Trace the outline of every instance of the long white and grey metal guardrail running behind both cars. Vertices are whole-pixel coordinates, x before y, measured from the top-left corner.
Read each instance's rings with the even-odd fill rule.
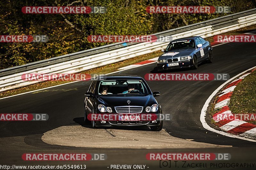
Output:
[[[206,38],[254,24],[256,24],[256,9],[163,31],[154,35],[171,35],[172,39],[193,35]],[[165,48],[168,44],[169,42],[114,43],[0,70],[0,92],[37,83],[36,81],[22,80],[22,74],[77,73],[148,54]]]

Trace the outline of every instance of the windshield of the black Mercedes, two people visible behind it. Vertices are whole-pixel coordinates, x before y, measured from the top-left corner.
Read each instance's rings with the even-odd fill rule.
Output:
[[[99,95],[148,95],[149,90],[142,80],[104,80],[98,86]]]

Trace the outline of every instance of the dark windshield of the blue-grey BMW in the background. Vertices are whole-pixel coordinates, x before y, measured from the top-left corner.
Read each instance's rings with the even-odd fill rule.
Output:
[[[172,41],[166,48],[166,51],[195,48],[194,40]]]

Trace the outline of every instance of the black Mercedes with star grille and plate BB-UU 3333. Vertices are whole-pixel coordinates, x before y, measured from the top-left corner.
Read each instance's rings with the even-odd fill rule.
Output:
[[[84,121],[92,127],[147,126],[152,131],[163,128],[162,110],[140,76],[108,75],[94,80],[85,93]]]

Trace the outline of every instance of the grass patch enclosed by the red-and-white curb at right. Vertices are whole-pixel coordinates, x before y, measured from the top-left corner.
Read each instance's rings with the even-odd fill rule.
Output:
[[[229,108],[233,114],[256,114],[256,71],[236,85]],[[250,123],[256,124],[256,121]]]

